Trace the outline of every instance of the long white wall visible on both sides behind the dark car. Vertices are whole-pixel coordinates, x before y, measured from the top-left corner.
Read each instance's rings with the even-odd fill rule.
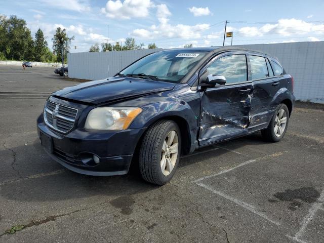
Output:
[[[240,46],[278,58],[295,80],[297,100],[324,103],[324,42],[299,42]],[[69,77],[101,79],[114,75],[136,59],[162,49],[69,53]]]

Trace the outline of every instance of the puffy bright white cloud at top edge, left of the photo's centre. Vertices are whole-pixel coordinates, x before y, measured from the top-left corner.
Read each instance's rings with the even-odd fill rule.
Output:
[[[131,19],[144,18],[149,14],[149,8],[154,5],[150,0],[109,0],[105,8],[101,8],[101,13],[108,18]]]

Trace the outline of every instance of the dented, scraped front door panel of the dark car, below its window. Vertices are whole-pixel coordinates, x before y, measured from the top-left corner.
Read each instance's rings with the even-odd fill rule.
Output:
[[[200,144],[226,139],[250,124],[252,84],[225,86],[201,94]]]

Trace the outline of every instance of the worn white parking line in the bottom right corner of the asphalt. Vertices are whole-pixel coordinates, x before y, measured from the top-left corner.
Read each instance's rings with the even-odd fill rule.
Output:
[[[295,236],[291,236],[291,235],[287,235],[287,237],[294,239],[298,242],[306,242],[303,241],[301,238],[304,235],[305,229],[307,227],[307,225],[309,224],[309,222],[314,218],[316,212],[318,210],[321,210],[322,206],[324,204],[324,190],[322,190],[322,192],[320,193],[319,198],[317,199],[316,203],[313,203],[312,207],[308,210],[308,214],[304,217],[302,223],[301,223],[301,227],[298,230],[298,232],[295,234]]]

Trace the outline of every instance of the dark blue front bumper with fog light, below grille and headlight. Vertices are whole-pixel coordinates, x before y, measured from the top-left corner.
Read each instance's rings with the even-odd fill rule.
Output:
[[[75,129],[63,135],[45,125],[43,114],[37,118],[38,137],[42,133],[52,141],[52,150],[46,149],[51,158],[71,171],[93,176],[127,174],[135,147],[144,130]],[[98,164],[91,160],[93,155],[100,159]]]

